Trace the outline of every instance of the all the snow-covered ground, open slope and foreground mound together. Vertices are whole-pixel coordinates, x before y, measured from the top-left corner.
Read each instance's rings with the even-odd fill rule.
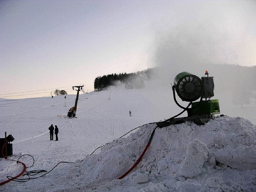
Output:
[[[50,171],[59,162],[72,162],[61,163],[37,179],[10,181],[0,186],[1,191],[256,191],[255,103],[234,108],[220,101],[221,114],[228,116],[217,116],[202,126],[186,122],[156,128],[142,161],[118,180],[146,147],[156,127],[148,123],[181,111],[172,100],[171,90],[116,88],[82,94],[77,118],[66,118],[75,98],[68,95],[67,106],[64,96],[0,100],[0,137],[4,138],[6,131],[15,138],[9,159],[33,156],[32,167],[31,156],[19,160],[27,171]],[[51,124],[59,128],[58,141],[50,141]],[[90,156],[99,146],[103,147]],[[1,158],[0,182],[22,169],[22,165]]]

